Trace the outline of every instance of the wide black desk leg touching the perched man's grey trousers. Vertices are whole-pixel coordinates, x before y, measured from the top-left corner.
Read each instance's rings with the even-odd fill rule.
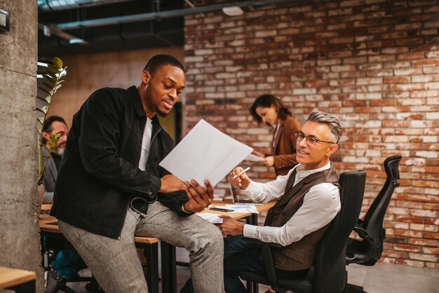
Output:
[[[177,272],[175,270],[175,247],[161,241],[161,291],[177,292]]]

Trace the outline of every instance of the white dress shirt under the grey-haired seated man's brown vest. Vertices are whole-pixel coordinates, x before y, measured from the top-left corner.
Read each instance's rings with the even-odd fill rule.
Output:
[[[305,177],[331,167],[331,163],[322,168],[314,170],[304,170],[303,165],[297,165],[295,183]],[[278,176],[276,180],[267,183],[257,183],[250,181],[245,193],[257,202],[267,203],[273,199],[281,198],[285,192],[293,168],[287,175]],[[297,242],[304,236],[317,231],[332,221],[341,209],[340,192],[338,186],[323,182],[317,184],[304,196],[304,203],[299,210],[291,217],[288,222],[281,227],[273,226],[254,226],[245,224],[244,236],[257,238],[264,242],[278,243],[286,246]]]

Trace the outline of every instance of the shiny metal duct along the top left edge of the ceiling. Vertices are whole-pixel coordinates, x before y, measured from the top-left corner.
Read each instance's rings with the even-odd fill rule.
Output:
[[[126,1],[133,0],[38,0],[38,9],[41,11],[61,11]]]

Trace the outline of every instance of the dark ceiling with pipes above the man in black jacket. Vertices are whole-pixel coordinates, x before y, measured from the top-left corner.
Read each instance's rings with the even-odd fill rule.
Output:
[[[184,16],[144,20],[155,13],[181,10],[184,8],[183,0],[121,0],[114,3],[116,1],[39,0],[39,58],[183,45]],[[50,2],[53,2],[51,8],[47,5]],[[55,6],[62,2],[79,3],[80,6]],[[133,15],[143,15],[143,20],[135,21]],[[114,17],[117,20],[104,25],[111,23],[108,18]],[[127,22],[117,23],[124,17],[128,18]],[[50,36],[45,36],[48,29]],[[86,43],[69,43],[69,39],[76,37]]]

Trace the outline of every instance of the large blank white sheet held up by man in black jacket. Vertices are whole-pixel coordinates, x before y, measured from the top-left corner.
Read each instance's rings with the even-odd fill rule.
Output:
[[[215,186],[252,150],[201,119],[159,165],[182,181]]]

